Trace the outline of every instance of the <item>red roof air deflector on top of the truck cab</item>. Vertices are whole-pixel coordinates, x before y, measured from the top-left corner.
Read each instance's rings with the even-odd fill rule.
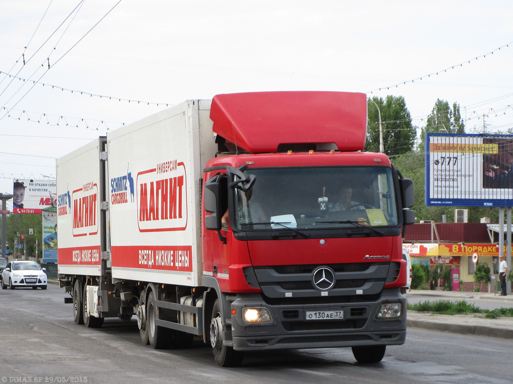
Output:
[[[252,153],[277,152],[279,144],[335,143],[362,151],[367,96],[349,92],[251,92],[216,95],[213,131]]]

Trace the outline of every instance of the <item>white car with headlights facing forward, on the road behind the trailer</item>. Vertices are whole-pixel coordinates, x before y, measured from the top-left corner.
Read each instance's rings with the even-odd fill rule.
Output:
[[[2,271],[2,289],[16,287],[32,287],[32,289],[46,289],[46,268],[41,268],[35,261],[11,261]]]

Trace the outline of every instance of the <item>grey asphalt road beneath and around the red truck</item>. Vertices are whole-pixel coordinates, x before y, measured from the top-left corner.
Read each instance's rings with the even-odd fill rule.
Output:
[[[187,350],[141,344],[135,320],[101,329],[73,322],[64,291],[0,290],[0,381],[88,383],[511,383],[513,340],[409,329],[380,364],[362,366],[348,348],[247,354],[219,368],[198,340]]]

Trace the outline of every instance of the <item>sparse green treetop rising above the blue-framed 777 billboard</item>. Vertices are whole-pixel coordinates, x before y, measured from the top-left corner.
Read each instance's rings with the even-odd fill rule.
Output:
[[[437,99],[431,113],[427,116],[426,126],[421,129],[420,152],[425,151],[425,138],[428,133],[465,133],[465,121],[461,117],[460,104]]]

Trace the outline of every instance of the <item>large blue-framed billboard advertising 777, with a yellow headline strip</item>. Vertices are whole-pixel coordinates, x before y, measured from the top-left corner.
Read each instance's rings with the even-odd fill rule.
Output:
[[[513,206],[513,135],[427,134],[426,205]]]

